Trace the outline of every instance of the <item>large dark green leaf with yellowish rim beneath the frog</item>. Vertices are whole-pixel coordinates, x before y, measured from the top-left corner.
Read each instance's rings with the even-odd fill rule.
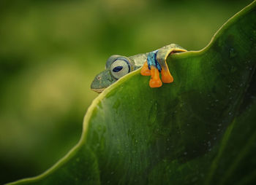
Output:
[[[168,58],[175,82],[140,71],[94,100],[80,142],[53,168],[13,184],[256,182],[256,1],[199,52]]]

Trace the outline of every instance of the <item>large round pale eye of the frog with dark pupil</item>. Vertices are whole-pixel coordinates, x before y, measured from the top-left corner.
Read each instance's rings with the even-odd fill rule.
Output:
[[[117,58],[110,67],[110,72],[116,79],[128,74],[130,70],[129,62],[125,58]]]

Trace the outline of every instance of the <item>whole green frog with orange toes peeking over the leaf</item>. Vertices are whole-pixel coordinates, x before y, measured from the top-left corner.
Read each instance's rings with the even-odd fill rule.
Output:
[[[149,80],[151,88],[161,87],[162,83],[172,83],[173,76],[170,74],[166,59],[168,55],[177,52],[187,52],[187,50],[178,44],[168,44],[158,50],[130,57],[111,55],[106,61],[105,70],[95,76],[91,90],[101,93],[118,79],[139,68],[141,75],[151,76]]]

